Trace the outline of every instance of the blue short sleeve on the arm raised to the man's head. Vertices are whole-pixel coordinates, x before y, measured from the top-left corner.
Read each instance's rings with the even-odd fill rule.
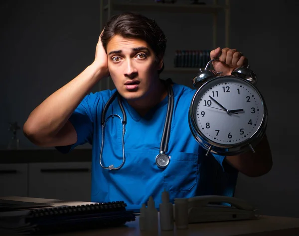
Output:
[[[68,146],[55,147],[61,153],[69,153],[76,146],[85,143],[92,144],[93,136],[93,113],[95,99],[92,94],[85,96],[69,118],[77,133],[77,142]]]

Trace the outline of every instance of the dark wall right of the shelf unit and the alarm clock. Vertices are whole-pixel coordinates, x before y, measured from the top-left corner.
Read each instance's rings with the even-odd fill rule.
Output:
[[[240,174],[236,196],[268,214],[295,217],[299,217],[298,8],[295,0],[231,1],[231,45],[246,53],[258,75],[257,85],[269,110],[267,136],[274,162],[271,172],[260,178]]]

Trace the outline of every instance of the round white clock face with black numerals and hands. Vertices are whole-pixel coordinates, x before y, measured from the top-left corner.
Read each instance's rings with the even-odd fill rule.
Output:
[[[197,91],[194,119],[201,135],[220,145],[248,141],[264,117],[263,99],[242,79],[219,77]]]

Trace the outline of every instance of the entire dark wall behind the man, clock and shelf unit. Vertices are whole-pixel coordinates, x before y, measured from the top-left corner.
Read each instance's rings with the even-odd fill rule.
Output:
[[[248,57],[258,76],[269,111],[267,136],[274,161],[271,172],[262,177],[240,174],[236,197],[249,200],[265,214],[299,217],[299,1],[231,0],[230,5],[229,46]],[[100,13],[100,0],[1,1],[0,149],[6,149],[11,135],[8,122],[22,126],[40,102],[93,62]],[[165,67],[172,67],[176,49],[213,49],[212,16],[142,13],[154,18],[168,38]],[[225,47],[223,12],[218,20],[217,46]],[[161,75],[190,86],[193,76]],[[38,149],[21,131],[18,137],[21,149]]]

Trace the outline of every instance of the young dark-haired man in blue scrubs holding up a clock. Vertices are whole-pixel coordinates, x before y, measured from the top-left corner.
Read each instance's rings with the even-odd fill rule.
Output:
[[[140,208],[152,196],[158,205],[164,189],[172,202],[196,195],[233,196],[239,171],[254,177],[272,167],[266,137],[255,154],[206,157],[188,125],[188,109],[196,90],[171,82],[170,161],[165,168],[156,165],[168,104],[169,83],[159,79],[165,48],[164,33],[153,20],[135,13],[112,17],[99,38],[94,62],[45,99],[24,124],[24,134],[38,146],[67,153],[86,142],[92,144],[93,202],[123,200],[128,208]],[[222,75],[247,64],[235,49],[216,48],[210,53],[211,58],[219,55],[213,67]],[[115,90],[89,91],[109,75],[120,96],[102,117]],[[119,102],[126,114],[124,136]],[[106,119],[103,136],[101,120]],[[110,170],[110,165],[121,167]]]

